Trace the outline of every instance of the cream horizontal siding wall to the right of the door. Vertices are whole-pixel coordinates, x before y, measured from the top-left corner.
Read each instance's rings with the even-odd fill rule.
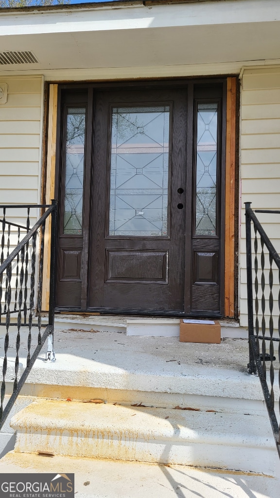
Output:
[[[251,201],[252,209],[280,209],[280,67],[243,71],[240,131],[240,323],[242,326],[247,326],[244,202]],[[257,214],[257,217],[280,253],[280,215]],[[267,255],[265,256],[265,278],[265,295],[268,297],[269,258]],[[260,270],[258,280],[260,284]],[[274,281],[275,312],[273,314],[278,315],[279,285],[277,282],[279,283],[279,276],[276,270]],[[261,297],[260,286],[258,297]],[[269,315],[268,309],[266,314]]]

